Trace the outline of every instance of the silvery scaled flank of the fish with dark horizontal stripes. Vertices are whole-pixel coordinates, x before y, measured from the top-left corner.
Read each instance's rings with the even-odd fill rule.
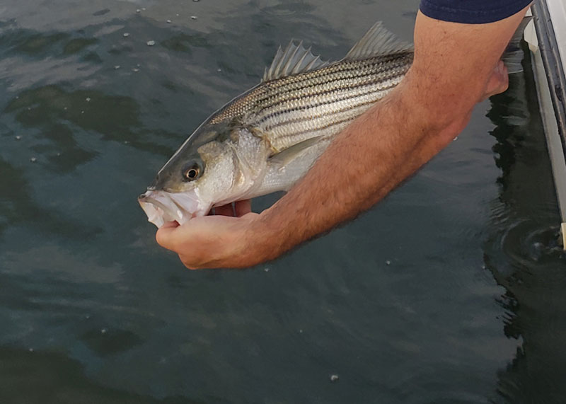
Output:
[[[403,79],[412,52],[340,61],[316,71],[267,81],[213,122],[242,116],[282,151],[311,137],[340,132]],[[248,112],[246,115],[242,113]]]

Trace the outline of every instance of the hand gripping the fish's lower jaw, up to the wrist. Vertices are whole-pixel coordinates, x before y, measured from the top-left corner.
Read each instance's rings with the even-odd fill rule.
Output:
[[[216,207],[215,215],[195,217],[180,226],[170,221],[156,233],[157,243],[179,255],[189,269],[250,267],[262,261],[254,253],[249,230],[259,215],[250,200]]]

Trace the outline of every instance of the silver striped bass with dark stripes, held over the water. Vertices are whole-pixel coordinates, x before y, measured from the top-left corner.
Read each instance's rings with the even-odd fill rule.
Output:
[[[261,82],[204,120],[138,197],[148,220],[185,224],[289,190],[336,134],[400,83],[413,54],[381,21],[336,62],[302,42],[279,47]]]

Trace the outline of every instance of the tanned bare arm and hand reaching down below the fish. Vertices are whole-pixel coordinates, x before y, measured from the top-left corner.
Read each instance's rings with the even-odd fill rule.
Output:
[[[475,103],[507,88],[499,57],[524,12],[481,25],[419,13],[415,62],[405,79],[338,134],[287,195],[261,214],[243,209],[239,218],[169,224],[158,243],[187,267],[248,267],[369,209],[449,144]]]

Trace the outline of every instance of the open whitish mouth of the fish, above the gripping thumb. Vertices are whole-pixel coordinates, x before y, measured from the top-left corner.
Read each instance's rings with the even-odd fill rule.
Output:
[[[166,221],[185,224],[197,216],[204,216],[210,207],[204,204],[195,190],[187,192],[166,192],[148,190],[137,198],[147,220],[158,228]]]

